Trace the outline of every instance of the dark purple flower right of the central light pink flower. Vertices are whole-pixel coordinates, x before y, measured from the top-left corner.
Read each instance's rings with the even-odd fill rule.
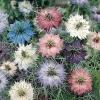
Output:
[[[80,40],[74,40],[71,43],[66,43],[64,53],[66,60],[72,64],[78,64],[80,61],[84,60],[86,56],[86,51],[83,49]]]

